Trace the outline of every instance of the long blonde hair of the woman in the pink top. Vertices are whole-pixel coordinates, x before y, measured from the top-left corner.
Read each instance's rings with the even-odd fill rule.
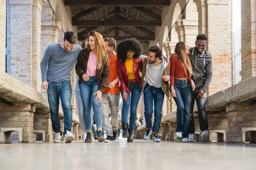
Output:
[[[99,34],[95,31],[90,31],[87,37],[87,42],[89,41],[89,37],[93,36],[95,39],[95,51],[96,51],[96,59],[97,59],[97,69],[99,70],[105,64],[108,64],[108,53],[106,51],[105,42],[102,37],[102,34]],[[87,46],[87,49],[91,51],[90,45]]]

